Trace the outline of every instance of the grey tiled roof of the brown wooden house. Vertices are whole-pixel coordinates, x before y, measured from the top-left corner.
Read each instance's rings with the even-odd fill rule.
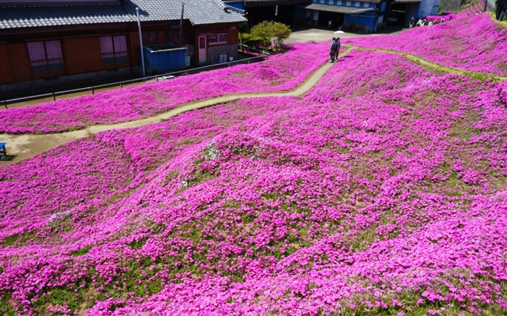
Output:
[[[40,26],[170,21],[181,17],[181,0],[123,0],[118,6],[9,6],[0,7],[0,29]],[[183,19],[193,25],[246,21],[241,12],[220,0],[186,0]]]

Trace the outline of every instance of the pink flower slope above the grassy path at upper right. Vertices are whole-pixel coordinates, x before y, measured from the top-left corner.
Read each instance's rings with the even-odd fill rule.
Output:
[[[461,70],[507,74],[507,29],[488,14],[461,14],[453,21],[412,28],[400,36],[345,39],[344,43],[408,52]]]

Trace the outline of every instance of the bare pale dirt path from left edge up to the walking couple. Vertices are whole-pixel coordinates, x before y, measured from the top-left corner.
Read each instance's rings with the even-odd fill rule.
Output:
[[[351,49],[345,50],[340,56],[345,56],[351,51]],[[108,125],[92,125],[86,129],[80,129],[78,131],[66,131],[63,133],[55,134],[0,134],[0,139],[4,143],[8,143],[8,155],[14,155],[14,159],[10,161],[0,161],[0,166],[12,165],[14,162],[26,160],[37,154],[41,154],[44,151],[48,151],[54,147],[65,145],[66,143],[77,140],[79,138],[85,138],[97,134],[101,131],[109,131],[112,129],[126,129],[132,127],[141,127],[150,124],[160,123],[164,120],[168,120],[178,114],[192,111],[193,109],[202,109],[204,107],[210,107],[221,103],[235,101],[241,98],[263,98],[266,96],[301,96],[316,85],[320,79],[328,72],[330,67],[334,64],[324,63],[319,69],[312,72],[306,80],[299,85],[299,87],[290,91],[284,92],[257,92],[257,93],[245,93],[245,94],[230,94],[225,96],[219,96],[217,98],[210,98],[201,101],[195,101],[192,103],[186,103],[179,105],[174,109],[170,109],[167,112],[150,116],[148,118],[140,118],[139,120],[131,120],[128,122],[108,124]]]

